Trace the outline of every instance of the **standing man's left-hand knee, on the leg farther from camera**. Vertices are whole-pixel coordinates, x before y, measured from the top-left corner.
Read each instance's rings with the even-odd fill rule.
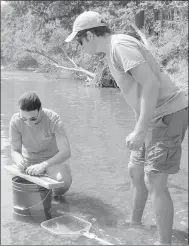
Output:
[[[142,165],[136,165],[132,162],[128,164],[128,172],[134,186],[144,183],[144,167]]]

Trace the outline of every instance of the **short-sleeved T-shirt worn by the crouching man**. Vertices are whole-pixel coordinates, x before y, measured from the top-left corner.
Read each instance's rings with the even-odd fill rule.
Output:
[[[9,127],[11,145],[20,141],[22,155],[29,163],[38,163],[53,157],[58,152],[57,139],[67,137],[60,116],[43,108],[40,121],[28,126],[19,113],[12,116]]]

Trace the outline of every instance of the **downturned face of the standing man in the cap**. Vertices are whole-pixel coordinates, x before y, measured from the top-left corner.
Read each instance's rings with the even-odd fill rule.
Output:
[[[77,39],[77,42],[84,48],[87,53],[97,53],[97,40],[93,33],[85,33],[83,36]]]

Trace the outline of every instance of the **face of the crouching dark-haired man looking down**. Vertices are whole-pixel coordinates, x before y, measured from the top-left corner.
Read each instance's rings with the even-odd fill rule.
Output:
[[[40,110],[38,111],[24,111],[20,110],[20,119],[23,120],[28,126],[34,126],[39,118]]]

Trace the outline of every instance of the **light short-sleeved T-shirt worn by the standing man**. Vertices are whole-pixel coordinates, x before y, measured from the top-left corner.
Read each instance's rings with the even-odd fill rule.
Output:
[[[167,74],[160,71],[153,55],[139,40],[125,34],[112,35],[108,65],[127,103],[138,115],[140,114],[142,86],[140,81],[132,77],[130,69],[142,63],[147,63],[160,82],[154,120],[188,106],[184,92],[170,80]]]

